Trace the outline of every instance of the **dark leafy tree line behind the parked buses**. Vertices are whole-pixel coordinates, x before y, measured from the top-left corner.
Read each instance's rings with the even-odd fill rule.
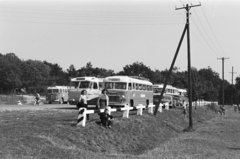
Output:
[[[39,60],[21,60],[14,53],[0,53],[0,88],[2,90],[25,89],[42,90],[49,86],[69,85],[70,79],[81,76],[107,77],[113,75],[142,76],[148,78],[153,84],[164,83],[168,75],[168,69],[152,70],[142,62],[134,62],[123,67],[122,71],[114,72],[111,69],[93,67],[91,62],[76,69],[70,65],[67,70],[63,70],[58,64]],[[170,75],[168,84],[177,88],[187,88],[187,71],[179,71],[174,67]],[[240,77],[237,77],[236,84],[231,85],[224,81],[225,103],[231,104],[232,93],[233,102],[238,103],[240,98]],[[233,90],[233,92],[232,92]],[[219,74],[211,69],[202,68],[197,70],[192,67],[192,96],[193,101],[204,99],[206,101],[222,101],[222,79]]]

